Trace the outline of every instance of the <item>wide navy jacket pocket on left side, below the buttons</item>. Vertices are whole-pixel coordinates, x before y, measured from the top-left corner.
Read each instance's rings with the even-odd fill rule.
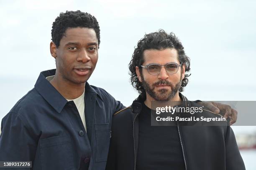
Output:
[[[68,135],[39,140],[42,170],[73,170],[73,153]]]

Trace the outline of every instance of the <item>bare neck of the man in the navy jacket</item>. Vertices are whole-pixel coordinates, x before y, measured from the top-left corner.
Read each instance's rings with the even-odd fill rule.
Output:
[[[74,84],[68,80],[64,80],[57,74],[50,81],[50,83],[65,99],[73,100],[84,93],[85,83]]]

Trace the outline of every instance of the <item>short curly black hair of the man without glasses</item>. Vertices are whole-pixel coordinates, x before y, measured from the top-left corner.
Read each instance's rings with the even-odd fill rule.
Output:
[[[100,26],[96,18],[89,13],[77,11],[66,11],[60,13],[52,23],[51,40],[56,47],[59,47],[61,38],[65,35],[67,28],[92,28],[96,32],[98,43],[100,45]]]

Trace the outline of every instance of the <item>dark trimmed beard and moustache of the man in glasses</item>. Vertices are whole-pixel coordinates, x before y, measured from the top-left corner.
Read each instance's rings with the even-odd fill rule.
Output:
[[[169,100],[171,100],[176,95],[176,93],[179,91],[179,88],[181,87],[181,84],[182,84],[182,75],[180,76],[179,82],[175,85],[173,85],[168,80],[159,80],[158,82],[155,82],[153,85],[149,85],[144,80],[143,76],[141,78],[142,78],[142,86],[144,87],[144,89],[146,90],[148,95],[150,95],[156,101],[169,101]],[[172,90],[169,91],[167,89],[160,89],[157,92],[155,92],[154,91],[155,86],[160,85],[160,84],[169,85],[169,86],[171,86]]]

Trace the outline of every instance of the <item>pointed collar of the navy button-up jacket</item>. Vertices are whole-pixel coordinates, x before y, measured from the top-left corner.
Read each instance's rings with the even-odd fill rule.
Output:
[[[57,111],[61,112],[67,100],[46,80],[46,77],[55,75],[56,69],[42,71],[36,81],[35,89]],[[88,82],[85,83],[85,92],[97,93]],[[102,97],[97,93],[102,100]]]

